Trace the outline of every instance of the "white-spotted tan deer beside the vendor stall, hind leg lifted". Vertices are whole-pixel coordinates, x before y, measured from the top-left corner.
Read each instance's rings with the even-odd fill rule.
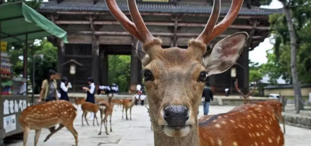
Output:
[[[76,116],[77,109],[65,100],[49,101],[26,107],[18,119],[24,131],[23,146],[26,146],[30,130],[35,130],[35,146],[37,146],[41,129],[48,128],[51,132],[45,138],[45,142],[63,127],[66,127],[72,133],[76,146],[78,146],[78,132],[73,128],[73,121]],[[55,130],[56,124],[59,124],[59,126]]]

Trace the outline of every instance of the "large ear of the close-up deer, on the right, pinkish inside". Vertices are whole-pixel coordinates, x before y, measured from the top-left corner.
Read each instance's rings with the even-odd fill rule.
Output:
[[[239,32],[220,40],[214,46],[211,55],[204,58],[208,74],[218,74],[228,70],[238,60],[247,39],[246,32]]]

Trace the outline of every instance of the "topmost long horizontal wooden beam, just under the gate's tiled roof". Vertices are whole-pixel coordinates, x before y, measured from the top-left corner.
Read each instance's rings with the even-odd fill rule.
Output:
[[[87,11],[49,11],[49,10],[38,10],[38,12],[45,13],[57,13],[57,14],[68,14],[68,15],[110,15],[110,12],[87,12]],[[130,15],[129,12],[125,12],[125,15]],[[154,15],[154,16],[172,16],[173,13],[148,13],[142,12],[140,13],[142,16],[144,15]],[[191,13],[183,13],[184,16],[201,16],[201,17],[209,17],[211,14],[191,14]],[[220,15],[220,18],[225,17],[225,15]],[[239,15],[237,18],[241,19],[251,19],[251,18],[261,18],[261,19],[269,19],[269,15],[265,16],[249,16],[249,15]]]

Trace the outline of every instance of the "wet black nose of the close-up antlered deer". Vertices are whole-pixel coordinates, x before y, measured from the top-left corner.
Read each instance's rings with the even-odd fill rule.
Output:
[[[169,126],[184,126],[189,119],[188,108],[185,106],[167,106],[163,110],[163,118]]]

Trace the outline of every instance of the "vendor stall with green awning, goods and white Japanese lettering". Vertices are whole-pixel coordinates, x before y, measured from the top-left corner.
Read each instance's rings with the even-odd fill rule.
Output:
[[[67,32],[23,2],[0,5],[0,146],[7,136],[22,133],[18,118],[27,105],[27,49],[28,40],[54,35],[67,43]],[[23,77],[13,76],[7,54],[7,44],[25,41]]]

